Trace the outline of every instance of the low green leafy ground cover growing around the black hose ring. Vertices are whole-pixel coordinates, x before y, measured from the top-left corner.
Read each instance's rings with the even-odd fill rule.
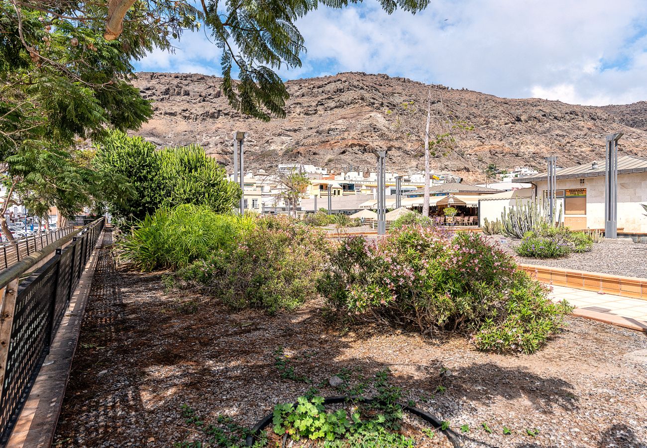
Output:
[[[340,375],[349,379],[348,375]],[[206,424],[195,410],[183,405],[182,416],[186,424],[203,432],[202,439],[206,439],[208,445],[177,442],[175,447],[234,448],[241,446],[249,435],[256,436],[254,447],[412,448],[424,446],[421,442],[435,438],[437,429],[428,427],[426,422],[404,420],[406,404],[403,403],[402,390],[389,383],[388,370],[366,379],[362,391],[370,388],[375,393],[372,399],[351,396],[344,385],[338,388],[345,392],[347,399],[338,405],[328,405],[329,408],[314,387],[308,394],[298,397],[296,403],[278,403],[272,410],[269,427],[260,434],[253,434],[225,416],[217,416],[215,424]],[[443,421],[441,428],[449,426],[449,422]]]

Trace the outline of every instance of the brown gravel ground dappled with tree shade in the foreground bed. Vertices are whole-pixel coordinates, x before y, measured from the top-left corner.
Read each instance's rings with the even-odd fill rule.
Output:
[[[184,404],[207,423],[225,414],[249,427],[311,387],[281,378],[274,352],[283,347],[296,374],[314,385],[342,368],[364,375],[389,368],[407,399],[456,430],[469,425],[466,447],[647,448],[644,333],[573,317],[539,353],[497,355],[463,337],[346,328],[325,320],[318,305],[274,316],[232,313],[191,293],[165,292],[160,274],[115,269],[102,249],[55,446],[194,440]],[[444,394],[436,392],[441,383]],[[512,435],[502,434],[504,425]]]

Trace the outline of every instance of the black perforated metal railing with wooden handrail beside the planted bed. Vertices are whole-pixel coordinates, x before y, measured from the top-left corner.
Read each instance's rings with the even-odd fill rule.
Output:
[[[16,424],[103,228],[104,218],[96,219],[0,271],[0,446]]]

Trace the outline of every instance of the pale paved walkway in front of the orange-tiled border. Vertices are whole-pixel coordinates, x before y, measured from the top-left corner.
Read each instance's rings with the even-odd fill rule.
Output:
[[[553,286],[553,300],[566,299],[575,315],[647,332],[647,300]]]

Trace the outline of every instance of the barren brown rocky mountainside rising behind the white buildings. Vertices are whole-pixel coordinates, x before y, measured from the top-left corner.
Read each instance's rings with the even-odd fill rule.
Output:
[[[228,106],[221,78],[201,74],[138,73],[133,82],[153,100],[155,116],[138,135],[158,146],[195,142],[232,165],[232,135],[248,131],[245,163],[271,170],[303,162],[335,170],[374,169],[386,148],[388,170],[421,170],[428,87],[385,74],[340,73],[287,82],[287,116],[270,122]],[[647,102],[626,106],[574,106],[538,98],[509,99],[433,85],[432,135],[441,139],[432,168],[483,178],[485,167],[545,167],[604,159],[604,138],[623,132],[620,151],[647,157]],[[451,128],[451,131],[450,131]],[[467,129],[465,129],[467,128]]]

